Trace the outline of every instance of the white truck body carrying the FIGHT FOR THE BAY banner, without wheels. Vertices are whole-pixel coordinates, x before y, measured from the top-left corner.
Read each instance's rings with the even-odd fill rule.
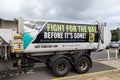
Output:
[[[69,23],[40,20],[19,20],[19,33],[22,39],[14,40],[17,30],[0,29],[0,36],[18,48],[16,41],[21,41],[23,53],[71,51],[71,50],[101,50],[111,41],[110,30],[102,23]],[[92,40],[90,41],[90,37]]]

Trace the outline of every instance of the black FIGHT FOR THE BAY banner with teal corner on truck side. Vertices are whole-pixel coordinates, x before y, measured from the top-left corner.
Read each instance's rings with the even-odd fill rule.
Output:
[[[98,42],[98,25],[49,21],[23,21],[24,45],[30,43]]]

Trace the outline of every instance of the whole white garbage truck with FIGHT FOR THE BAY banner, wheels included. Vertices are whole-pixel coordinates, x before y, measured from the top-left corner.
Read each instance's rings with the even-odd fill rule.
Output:
[[[105,23],[18,20],[16,28],[0,29],[4,59],[13,59],[19,68],[45,63],[55,76],[65,76],[73,68],[86,73],[92,67],[91,52],[105,49],[111,32]]]

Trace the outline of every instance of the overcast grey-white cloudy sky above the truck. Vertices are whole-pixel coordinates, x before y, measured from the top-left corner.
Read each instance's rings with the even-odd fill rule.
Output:
[[[106,22],[111,29],[120,27],[120,0],[0,0],[0,17],[22,16],[73,22]]]

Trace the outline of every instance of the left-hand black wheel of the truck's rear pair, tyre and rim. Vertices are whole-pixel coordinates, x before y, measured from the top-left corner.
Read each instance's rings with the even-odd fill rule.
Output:
[[[67,75],[70,69],[71,69],[70,62],[66,58],[57,59],[52,66],[52,72],[57,77]]]

